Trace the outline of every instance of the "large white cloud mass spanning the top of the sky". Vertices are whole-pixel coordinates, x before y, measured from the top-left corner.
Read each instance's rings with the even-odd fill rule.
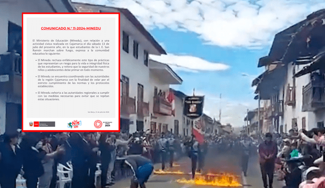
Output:
[[[75,0],[76,1],[76,0]],[[261,48],[274,35],[325,8],[322,0],[78,0],[129,9],[147,28],[199,34],[206,44]]]

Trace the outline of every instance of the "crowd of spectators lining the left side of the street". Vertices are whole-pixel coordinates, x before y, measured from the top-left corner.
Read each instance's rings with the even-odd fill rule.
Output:
[[[166,141],[163,141],[165,140]],[[1,135],[0,185],[16,187],[23,177],[27,188],[55,188],[58,165],[72,168],[72,188],[94,188],[95,172],[101,169],[101,186],[114,184],[117,160],[126,155],[142,155],[153,163],[167,162],[185,155],[185,136],[127,133],[17,133]],[[164,153],[164,151],[166,153]]]

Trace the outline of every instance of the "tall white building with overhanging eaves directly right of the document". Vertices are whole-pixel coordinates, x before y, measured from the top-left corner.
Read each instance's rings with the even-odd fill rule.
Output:
[[[73,3],[79,12],[119,12],[121,131],[144,131],[150,126],[149,55],[166,54],[136,17],[127,9]],[[146,128],[145,128],[146,127]]]

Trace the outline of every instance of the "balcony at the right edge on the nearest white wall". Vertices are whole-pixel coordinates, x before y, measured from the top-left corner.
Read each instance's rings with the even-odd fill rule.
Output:
[[[303,87],[302,111],[325,108],[325,81],[312,81]]]

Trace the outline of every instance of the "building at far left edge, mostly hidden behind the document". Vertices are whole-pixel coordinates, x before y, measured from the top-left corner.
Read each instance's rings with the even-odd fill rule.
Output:
[[[68,0],[0,1],[0,134],[22,128],[23,12],[75,12]]]

